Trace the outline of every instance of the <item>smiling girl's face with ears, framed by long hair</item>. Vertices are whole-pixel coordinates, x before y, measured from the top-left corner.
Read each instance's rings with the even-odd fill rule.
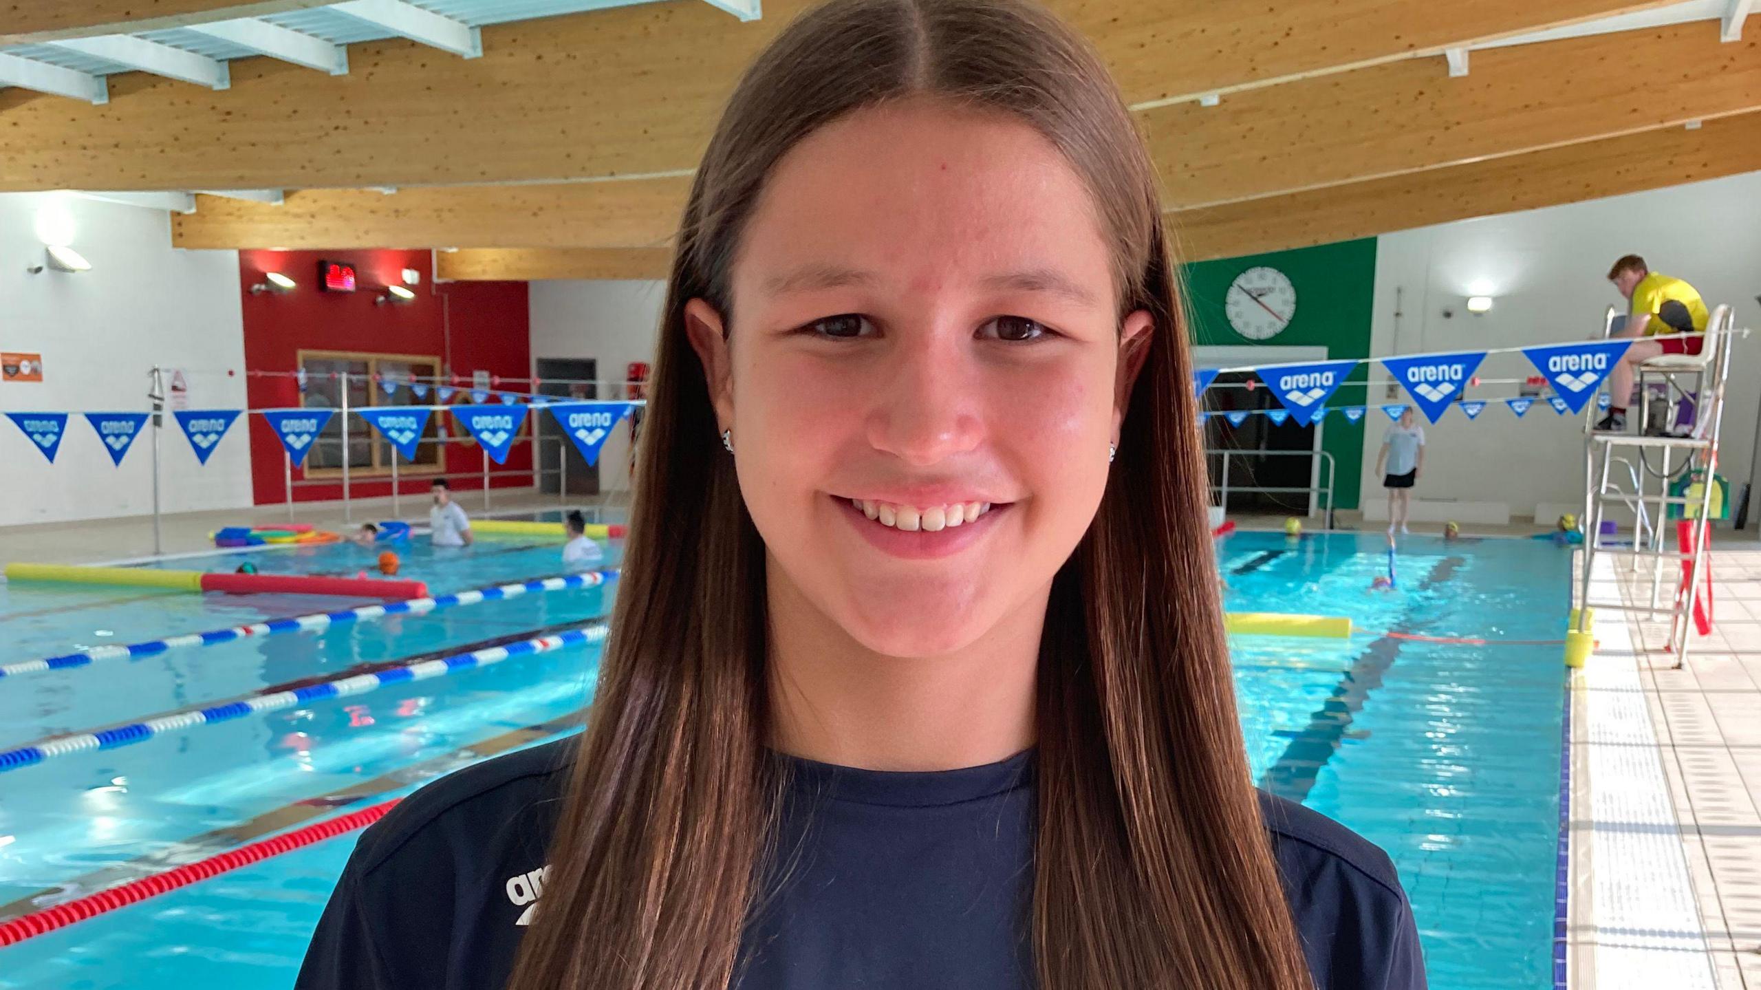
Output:
[[[733,314],[687,307],[771,601],[898,657],[1037,618],[1146,354],[1116,314],[1088,190],[1028,125],[910,100],[792,148]]]

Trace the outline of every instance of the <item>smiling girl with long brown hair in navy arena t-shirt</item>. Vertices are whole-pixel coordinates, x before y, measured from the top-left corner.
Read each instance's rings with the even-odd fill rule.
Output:
[[[1425,986],[1388,856],[1250,786],[1175,287],[1051,14],[799,16],[692,180],[586,731],[375,824],[299,986]]]

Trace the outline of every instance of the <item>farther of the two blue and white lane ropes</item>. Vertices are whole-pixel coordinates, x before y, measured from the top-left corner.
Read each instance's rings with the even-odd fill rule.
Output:
[[[468,592],[454,592],[451,595],[440,595],[440,597],[409,599],[409,601],[396,601],[384,604],[365,604],[359,608],[345,608],[342,611],[317,611],[312,615],[296,615],[292,618],[271,618],[268,622],[252,622],[250,625],[234,625],[231,629],[215,629],[211,632],[190,632],[187,636],[169,636],[166,639],[146,639],[144,643],[93,646],[90,650],[79,650],[77,654],[62,654],[60,657],[44,657],[41,661],[18,661],[12,664],[0,664],[0,678],[18,676],[21,673],[83,668],[95,661],[113,661],[123,657],[127,659],[151,657],[155,654],[181,650],[185,646],[215,646],[218,643],[245,639],[247,636],[275,636],[278,632],[303,632],[312,629],[324,629],[343,622],[368,622],[375,618],[384,618],[387,615],[428,615],[430,611],[442,611],[461,604],[516,599],[530,592],[592,588],[597,585],[604,585],[608,580],[609,581],[618,580],[618,573],[620,571],[616,567],[608,567],[604,571],[588,571],[585,574],[539,578],[534,581],[518,581],[512,585],[495,585],[488,588],[474,588]]]

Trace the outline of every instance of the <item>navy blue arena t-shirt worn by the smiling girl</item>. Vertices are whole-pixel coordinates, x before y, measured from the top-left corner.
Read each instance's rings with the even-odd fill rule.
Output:
[[[296,990],[500,990],[544,893],[578,738],[423,787],[370,828]],[[736,990],[1030,990],[1032,752],[939,773],[791,759],[768,897]],[[1317,990],[1423,990],[1393,863],[1261,796]]]

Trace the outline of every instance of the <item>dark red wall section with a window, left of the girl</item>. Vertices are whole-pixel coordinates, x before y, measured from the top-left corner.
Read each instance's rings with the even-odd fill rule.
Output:
[[[319,259],[356,266],[357,291],[322,292],[317,287]],[[386,285],[402,285],[402,271],[414,268],[421,282],[409,303],[375,305]],[[264,273],[280,271],[298,282],[291,292],[252,294]],[[289,372],[299,351],[361,351],[372,354],[431,354],[444,373],[465,388],[472,372],[484,370],[509,391],[528,391],[532,335],[527,319],[525,282],[451,282],[435,285],[431,254],[426,250],[241,250],[239,292],[245,312],[245,366],[250,372],[252,409],[298,407],[299,386]],[[280,373],[273,373],[280,372]],[[468,402],[468,400],[467,400]],[[442,416],[451,435],[461,428]],[[350,417],[350,430],[368,430]],[[250,469],[257,504],[282,502],[282,444],[259,416],[250,417]],[[481,484],[483,454],[475,446],[449,444],[446,472],[454,491]],[[301,481],[303,472],[294,470]],[[403,493],[426,493],[430,477],[400,477]],[[532,484],[532,446],[514,444],[505,465],[490,465],[490,484]],[[350,472],[349,490],[357,499],[391,495],[391,479]],[[294,500],[342,499],[342,483],[296,484]]]

